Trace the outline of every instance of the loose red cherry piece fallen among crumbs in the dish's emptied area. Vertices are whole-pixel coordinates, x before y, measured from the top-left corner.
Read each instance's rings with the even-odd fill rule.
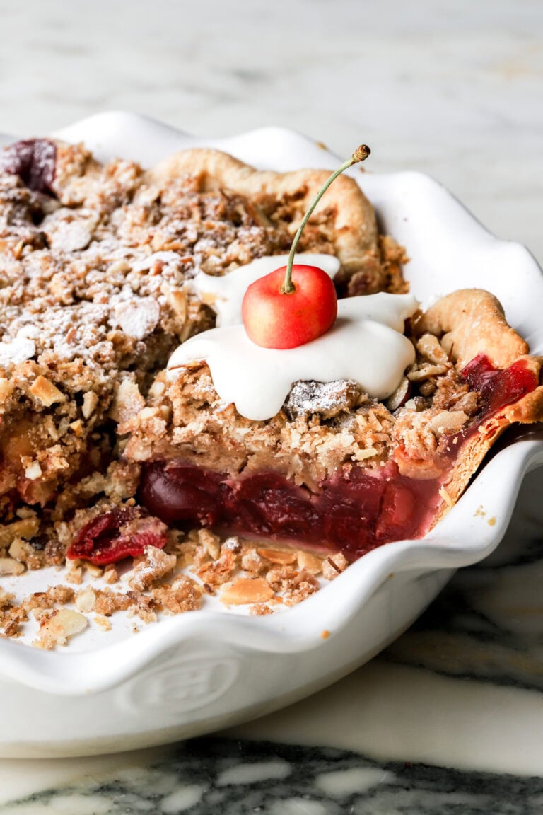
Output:
[[[166,533],[164,523],[150,518],[145,510],[138,507],[112,509],[81,527],[67,555],[71,560],[105,566],[125,557],[138,557],[147,546],[163,548]]]

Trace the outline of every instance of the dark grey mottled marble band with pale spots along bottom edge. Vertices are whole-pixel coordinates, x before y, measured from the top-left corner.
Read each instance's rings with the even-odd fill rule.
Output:
[[[0,815],[539,815],[543,779],[377,763],[331,748],[186,742],[167,760],[0,806]]]

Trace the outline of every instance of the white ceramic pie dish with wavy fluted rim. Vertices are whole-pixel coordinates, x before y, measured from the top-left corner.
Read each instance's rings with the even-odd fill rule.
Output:
[[[125,156],[143,165],[202,145],[263,169],[338,163],[311,139],[287,130],[195,139],[126,113],[100,114],[55,135],[85,141],[99,158]],[[427,176],[352,174],[383,230],[407,248],[405,272],[420,299],[465,286],[489,289],[532,352],[543,354],[543,275],[526,249],[490,235]],[[0,640],[0,756],[74,756],[188,738],[330,684],[407,628],[458,566],[497,546],[523,474],[540,464],[543,432],[518,434],[423,540],[374,550],[282,614],[253,618],[217,604],[160,620],[137,636],[123,620],[110,633],[85,632],[55,652]],[[27,589],[37,591],[55,576],[41,571],[26,579]],[[2,580],[8,590],[12,585]]]

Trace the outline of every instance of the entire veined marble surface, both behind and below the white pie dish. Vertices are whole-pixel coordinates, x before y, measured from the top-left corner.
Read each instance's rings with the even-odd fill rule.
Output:
[[[106,109],[275,124],[439,178],[543,261],[543,7],[529,0],[2,4],[0,130]],[[543,806],[543,469],[493,557],[330,689],[211,739],[0,760],[8,813],[530,813]],[[1,725],[0,725],[1,726]]]

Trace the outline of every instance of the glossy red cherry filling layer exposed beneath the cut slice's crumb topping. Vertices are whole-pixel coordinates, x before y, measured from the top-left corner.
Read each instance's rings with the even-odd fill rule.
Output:
[[[462,443],[484,419],[537,385],[522,360],[497,370],[484,355],[466,365],[462,376],[480,391],[483,409],[442,454],[437,478],[409,478],[391,461],[378,472],[353,466],[310,492],[276,473],[235,479],[184,461],[155,461],[142,474],[142,503],[170,524],[340,548],[349,559],[393,540],[422,537],[440,507],[440,487]],[[450,438],[453,442],[455,436]]]

